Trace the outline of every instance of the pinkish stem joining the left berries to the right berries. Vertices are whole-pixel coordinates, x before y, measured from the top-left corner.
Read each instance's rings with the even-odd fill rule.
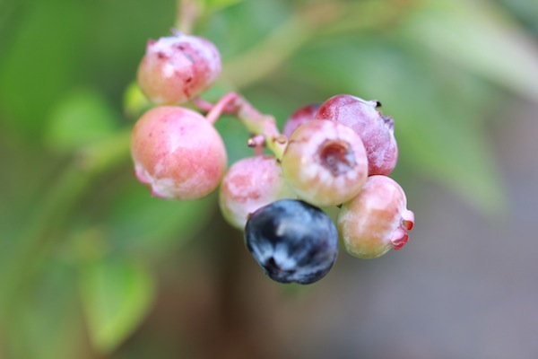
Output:
[[[196,103],[197,104],[197,103]],[[202,103],[205,105],[204,103]],[[215,123],[222,113],[235,115],[247,130],[256,138],[256,146],[259,145],[259,137],[263,136],[265,146],[271,151],[277,160],[282,160],[282,154],[286,148],[288,139],[282,135],[276,127],[273,116],[260,113],[244,97],[237,92],[230,92],[221,97],[206,115],[210,123]]]

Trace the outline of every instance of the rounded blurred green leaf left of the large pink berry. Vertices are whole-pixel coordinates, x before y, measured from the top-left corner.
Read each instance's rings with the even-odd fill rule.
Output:
[[[45,142],[57,152],[70,153],[111,136],[117,116],[100,92],[79,89],[68,93],[51,110]]]

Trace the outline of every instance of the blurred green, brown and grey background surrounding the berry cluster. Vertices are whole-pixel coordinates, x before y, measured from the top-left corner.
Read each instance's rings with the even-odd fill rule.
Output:
[[[195,33],[224,61],[206,100],[239,91],[281,125],[337,93],[382,101],[396,121],[393,177],[417,216],[410,245],[376,261],[343,252],[307,288],[271,283],[215,196],[162,201],[134,180],[126,89],[178,4],[4,0],[0,358],[535,355],[523,333],[538,324],[525,310],[538,300],[525,279],[538,253],[525,142],[538,3],[196,4]],[[217,127],[230,163],[251,153],[238,121]],[[492,329],[507,318],[518,335]]]

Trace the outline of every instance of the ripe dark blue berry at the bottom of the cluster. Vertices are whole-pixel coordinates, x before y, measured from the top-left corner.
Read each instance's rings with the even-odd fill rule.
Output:
[[[338,232],[331,218],[296,199],[259,208],[248,218],[245,241],[265,274],[280,283],[317,282],[338,255]]]

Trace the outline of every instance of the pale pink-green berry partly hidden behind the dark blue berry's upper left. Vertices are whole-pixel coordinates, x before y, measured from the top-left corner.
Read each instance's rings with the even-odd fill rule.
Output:
[[[259,207],[277,199],[295,197],[282,177],[280,165],[268,155],[235,162],[224,175],[219,195],[222,215],[241,230],[247,216]]]

